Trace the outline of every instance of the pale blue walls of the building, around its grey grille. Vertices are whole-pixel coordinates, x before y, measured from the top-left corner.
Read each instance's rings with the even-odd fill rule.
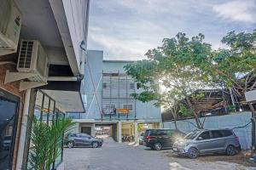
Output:
[[[101,119],[99,110],[102,110],[102,72],[125,73],[124,66],[131,63],[128,61],[102,59],[102,51],[88,50],[87,65],[85,66],[84,75],[87,82],[87,86],[85,86],[87,105],[86,113],[82,116],[82,118]],[[93,80],[91,79],[90,75],[93,77]],[[94,82],[94,87],[96,88],[97,99],[94,95],[94,87],[92,82]],[[136,118],[142,120],[143,122],[161,122],[160,108],[154,107],[154,102],[143,103],[137,100],[135,104],[135,111],[137,114]],[[112,118],[114,118],[114,116]]]

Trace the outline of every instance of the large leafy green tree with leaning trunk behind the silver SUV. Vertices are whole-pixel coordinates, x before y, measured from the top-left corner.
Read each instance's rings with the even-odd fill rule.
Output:
[[[165,38],[161,47],[148,50],[148,59],[125,65],[126,73],[135,78],[144,90],[134,94],[135,99],[143,102],[155,100],[156,105],[161,105],[166,104],[166,95],[175,92],[175,100],[185,99],[197,127],[202,128],[198,111],[189,95],[196,89],[212,86],[212,77],[205,62],[211,55],[211,45],[203,40],[201,33],[191,40],[184,33],[178,33],[176,37]],[[160,93],[159,83],[166,88],[166,93]]]

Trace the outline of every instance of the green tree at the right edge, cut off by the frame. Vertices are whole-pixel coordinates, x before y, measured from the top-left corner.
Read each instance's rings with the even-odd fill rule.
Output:
[[[244,99],[247,91],[256,88],[256,30],[238,34],[230,31],[221,42],[228,48],[212,52],[209,71]]]

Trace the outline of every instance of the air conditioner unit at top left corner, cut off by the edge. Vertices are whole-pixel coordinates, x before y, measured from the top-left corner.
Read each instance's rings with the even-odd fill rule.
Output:
[[[21,13],[13,0],[1,0],[0,56],[15,53],[21,28]]]

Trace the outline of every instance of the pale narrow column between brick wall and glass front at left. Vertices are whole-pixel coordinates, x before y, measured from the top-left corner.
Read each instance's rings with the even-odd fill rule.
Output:
[[[24,101],[23,112],[22,112],[22,121],[21,121],[21,127],[20,127],[20,141],[19,141],[19,149],[18,149],[18,155],[17,155],[17,161],[16,161],[16,169],[20,169],[23,161],[30,95],[31,95],[31,89],[26,90],[25,101]]]

